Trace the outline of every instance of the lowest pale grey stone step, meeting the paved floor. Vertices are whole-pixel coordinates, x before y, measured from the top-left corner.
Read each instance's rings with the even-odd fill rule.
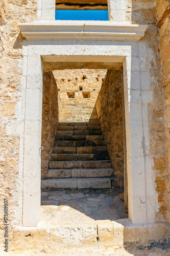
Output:
[[[66,178],[41,180],[42,189],[54,188],[110,188],[109,178]]]

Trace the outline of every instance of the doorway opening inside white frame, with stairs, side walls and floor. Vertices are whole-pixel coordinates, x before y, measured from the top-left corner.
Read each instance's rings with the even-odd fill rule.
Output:
[[[128,218],[123,70],[113,66],[43,75],[41,205],[60,219],[63,210],[85,222]]]

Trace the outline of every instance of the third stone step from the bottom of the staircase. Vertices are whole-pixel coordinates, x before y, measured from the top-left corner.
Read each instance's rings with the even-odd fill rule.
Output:
[[[111,168],[109,160],[98,161],[51,161],[50,169],[70,169],[70,168]]]

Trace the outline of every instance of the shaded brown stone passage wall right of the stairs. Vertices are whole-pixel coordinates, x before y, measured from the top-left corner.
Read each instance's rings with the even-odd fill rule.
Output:
[[[101,121],[114,174],[117,177],[124,177],[121,71],[108,70],[96,100],[96,110]]]

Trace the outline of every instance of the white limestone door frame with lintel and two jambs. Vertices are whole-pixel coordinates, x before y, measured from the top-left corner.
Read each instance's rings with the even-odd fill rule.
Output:
[[[22,35],[26,37],[26,32],[28,32],[28,40],[25,40],[23,44],[23,75],[21,78],[22,88],[26,95],[23,150],[20,152],[23,161],[20,165],[22,168],[20,173],[23,176],[22,225],[36,226],[40,219],[40,147],[44,61],[104,62],[106,65],[109,63],[109,67],[110,63],[123,63],[129,219],[132,223],[154,222],[154,185],[149,179],[152,169],[149,167],[148,113],[146,112],[149,101],[147,95],[150,91],[141,88],[141,73],[147,71],[143,71],[143,65],[139,61],[141,58],[146,58],[144,42],[99,38],[95,40],[53,38],[51,40],[49,34],[42,39],[45,32],[41,31],[42,37],[37,38],[37,27],[34,33],[33,27],[30,30],[23,26],[23,24],[20,25]],[[30,39],[31,33],[34,33],[34,36]],[[58,36],[60,37],[60,34]],[[78,36],[82,35],[75,34],[74,36],[79,38]],[[108,33],[105,36],[108,38]]]

